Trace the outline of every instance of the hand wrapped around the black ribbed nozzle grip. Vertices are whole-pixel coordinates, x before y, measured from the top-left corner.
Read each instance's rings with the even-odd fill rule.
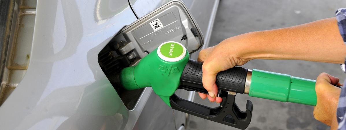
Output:
[[[242,42],[237,42],[234,38],[229,38],[222,41],[220,44],[201,50],[198,56],[198,61],[203,62],[202,65],[202,82],[204,88],[208,91],[208,95],[204,93],[198,93],[202,99],[208,97],[210,102],[220,103],[221,97],[217,96],[216,75],[232,68],[236,65],[243,65],[249,59],[245,59],[242,53],[242,49],[246,49]]]

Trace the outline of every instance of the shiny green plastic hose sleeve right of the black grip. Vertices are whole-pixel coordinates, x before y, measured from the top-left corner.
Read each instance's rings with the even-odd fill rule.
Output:
[[[253,69],[249,96],[316,106],[315,80]]]

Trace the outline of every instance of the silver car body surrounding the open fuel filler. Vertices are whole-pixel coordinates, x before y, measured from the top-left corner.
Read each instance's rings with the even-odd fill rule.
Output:
[[[98,63],[100,50],[118,31],[165,2],[38,0],[29,66],[0,107],[0,128],[184,129],[185,114],[165,105],[150,87],[128,110]],[[205,48],[218,0],[184,2],[201,28]]]

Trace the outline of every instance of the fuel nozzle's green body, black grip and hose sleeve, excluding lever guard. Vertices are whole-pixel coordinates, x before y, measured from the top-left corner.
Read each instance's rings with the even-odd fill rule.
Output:
[[[207,93],[203,91],[201,70],[201,63],[189,60],[189,53],[183,45],[166,42],[144,57],[138,65],[123,69],[120,81],[127,90],[152,86],[154,92],[170,106],[169,97],[180,85],[192,86],[189,90]],[[316,105],[317,100],[315,82],[287,74],[241,67],[220,72],[216,80],[221,90],[312,106]]]

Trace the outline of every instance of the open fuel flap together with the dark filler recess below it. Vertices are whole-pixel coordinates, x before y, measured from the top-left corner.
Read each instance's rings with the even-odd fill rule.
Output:
[[[118,77],[121,69],[136,65],[166,41],[183,44],[190,54],[203,45],[202,33],[181,1],[170,1],[126,26],[99,53],[103,72],[129,110],[134,108],[143,89],[122,89]]]

